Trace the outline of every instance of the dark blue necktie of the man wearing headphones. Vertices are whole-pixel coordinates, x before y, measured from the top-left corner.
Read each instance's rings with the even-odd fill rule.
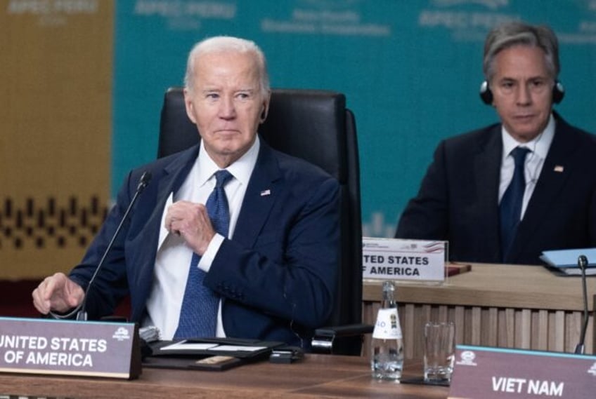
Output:
[[[501,229],[501,254],[503,261],[507,258],[511,245],[517,232],[517,225],[522,217],[522,202],[526,191],[526,177],[524,176],[524,164],[526,154],[530,152],[524,147],[515,147],[511,151],[515,163],[513,178],[501,198],[500,208],[500,229]]]

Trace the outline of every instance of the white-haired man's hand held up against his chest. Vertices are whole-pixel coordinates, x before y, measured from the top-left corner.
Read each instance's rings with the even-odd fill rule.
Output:
[[[165,228],[170,233],[182,236],[198,255],[205,253],[215,235],[205,205],[188,201],[178,201],[169,206]]]

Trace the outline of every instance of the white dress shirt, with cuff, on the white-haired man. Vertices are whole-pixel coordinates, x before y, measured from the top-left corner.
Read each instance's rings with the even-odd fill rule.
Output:
[[[259,154],[259,136],[254,144],[238,161],[226,168],[233,175],[226,186],[226,196],[230,208],[230,226],[228,238],[233,236],[238,215],[242,207],[246,188],[252,175],[254,165],[257,163]],[[220,168],[209,157],[203,142],[201,141],[199,156],[186,180],[176,193],[171,193],[163,210],[160,240],[155,257],[155,269],[153,271],[153,288],[147,301],[148,317],[143,320],[143,326],[155,325],[160,330],[161,339],[172,339],[182,307],[182,299],[188,279],[188,267],[193,257],[193,250],[190,249],[181,236],[169,234],[164,227],[167,208],[175,201],[190,201],[193,203],[207,203],[209,194],[215,187],[214,173]],[[204,271],[209,271],[213,259],[223,243],[224,237],[216,234],[202,255],[199,266]],[[217,312],[216,336],[225,337],[226,332],[221,321],[221,301]]]

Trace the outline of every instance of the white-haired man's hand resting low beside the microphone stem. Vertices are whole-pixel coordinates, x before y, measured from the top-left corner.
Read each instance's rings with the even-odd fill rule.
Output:
[[[83,302],[85,292],[64,273],[46,277],[32,292],[33,305],[42,314],[64,313]]]

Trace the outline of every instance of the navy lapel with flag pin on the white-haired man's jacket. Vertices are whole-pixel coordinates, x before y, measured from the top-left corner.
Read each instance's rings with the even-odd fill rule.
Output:
[[[242,209],[233,234],[233,240],[252,247],[265,224],[271,207],[283,189],[281,173],[273,150],[261,140],[257,164],[246,189]]]

